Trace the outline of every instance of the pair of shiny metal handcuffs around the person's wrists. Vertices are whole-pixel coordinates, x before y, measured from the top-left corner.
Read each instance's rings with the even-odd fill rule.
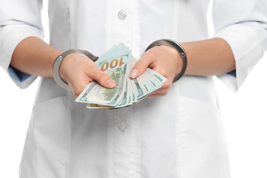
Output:
[[[175,83],[175,81],[178,81],[183,76],[183,74],[186,72],[186,67],[188,64],[188,60],[186,58],[186,51],[183,49],[183,47],[181,47],[181,44],[175,42],[174,40],[169,40],[169,39],[157,40],[155,42],[152,42],[149,45],[149,47],[147,47],[146,51],[153,48],[153,47],[156,47],[156,46],[173,47],[179,52],[179,55],[181,56],[181,58],[183,60],[183,67],[181,69],[181,72],[178,75],[176,75],[175,78],[173,79],[173,83]],[[64,79],[62,79],[60,77],[59,68],[60,68],[60,64],[64,60],[64,58],[71,53],[80,53],[80,54],[86,55],[90,60],[92,60],[94,62],[96,62],[99,59],[99,57],[94,56],[94,55],[92,55],[92,53],[85,51],[85,50],[82,50],[82,49],[71,49],[71,50],[65,51],[61,55],[58,55],[58,57],[55,59],[55,62],[53,64],[53,75],[54,75],[55,81],[62,88],[65,88],[66,90],[71,90],[71,88],[70,88],[70,86],[68,86],[68,82],[66,82]]]

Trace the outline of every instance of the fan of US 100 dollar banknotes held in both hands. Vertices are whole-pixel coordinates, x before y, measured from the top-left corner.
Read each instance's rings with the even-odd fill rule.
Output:
[[[131,79],[129,73],[136,62],[123,43],[112,47],[95,64],[114,79],[116,86],[112,89],[105,88],[97,81],[92,81],[76,101],[88,103],[87,108],[90,109],[126,107],[162,87],[167,79],[151,68],[147,68],[140,77]]]

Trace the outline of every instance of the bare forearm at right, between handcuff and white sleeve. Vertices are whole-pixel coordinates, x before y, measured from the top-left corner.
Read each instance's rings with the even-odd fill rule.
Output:
[[[181,43],[188,57],[187,75],[221,75],[236,69],[229,44],[222,38]]]

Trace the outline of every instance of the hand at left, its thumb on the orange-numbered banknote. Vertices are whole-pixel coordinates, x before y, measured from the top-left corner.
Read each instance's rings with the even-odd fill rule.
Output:
[[[73,53],[67,55],[60,64],[60,77],[66,79],[73,91],[75,99],[81,94],[87,84],[96,80],[106,88],[114,88],[115,81],[103,73],[92,60],[84,55]]]

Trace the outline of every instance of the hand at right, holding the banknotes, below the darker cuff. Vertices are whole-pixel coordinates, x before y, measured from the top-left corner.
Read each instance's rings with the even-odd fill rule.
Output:
[[[163,97],[170,90],[175,75],[181,71],[181,57],[173,47],[153,47],[142,54],[140,60],[133,66],[130,77],[136,78],[142,75],[148,67],[167,79],[160,89],[148,97]]]

